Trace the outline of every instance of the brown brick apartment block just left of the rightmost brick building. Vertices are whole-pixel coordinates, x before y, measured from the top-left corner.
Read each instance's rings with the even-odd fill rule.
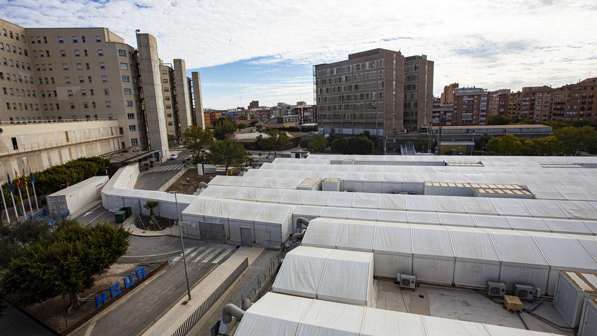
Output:
[[[549,121],[552,91],[553,88],[546,85],[523,87],[522,91],[507,95],[507,109],[500,112],[510,118],[534,120],[539,123]]]

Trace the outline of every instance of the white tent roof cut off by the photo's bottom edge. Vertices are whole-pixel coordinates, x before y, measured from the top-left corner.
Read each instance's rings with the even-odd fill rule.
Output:
[[[555,336],[546,332],[444,319],[267,293],[245,312],[235,336]]]

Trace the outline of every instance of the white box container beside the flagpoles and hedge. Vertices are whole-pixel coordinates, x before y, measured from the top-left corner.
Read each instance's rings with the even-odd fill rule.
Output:
[[[94,200],[99,200],[101,190],[108,182],[107,176],[94,176],[46,197],[48,210],[54,215],[73,213]]]

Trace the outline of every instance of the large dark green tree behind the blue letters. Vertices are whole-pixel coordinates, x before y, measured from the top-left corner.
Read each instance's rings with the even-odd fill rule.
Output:
[[[20,303],[40,303],[69,295],[70,307],[81,306],[79,294],[127,252],[130,232],[107,222],[93,226],[60,225],[49,239],[30,245],[2,276],[3,294],[19,294]]]

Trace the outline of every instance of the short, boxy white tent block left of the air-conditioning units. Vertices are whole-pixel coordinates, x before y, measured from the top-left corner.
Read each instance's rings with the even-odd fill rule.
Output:
[[[272,291],[370,307],[373,253],[298,246],[284,257]]]

